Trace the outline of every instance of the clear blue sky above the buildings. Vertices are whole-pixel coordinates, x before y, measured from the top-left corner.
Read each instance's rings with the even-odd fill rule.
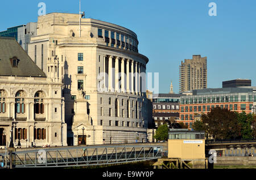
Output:
[[[79,0],[1,1],[0,31],[37,22],[38,3],[49,12],[79,12]],[[209,16],[210,2],[217,16]],[[159,92],[168,93],[171,80],[179,92],[179,65],[193,54],[208,57],[208,87],[247,78],[255,84],[255,0],[82,0],[86,18],[129,28],[138,35],[139,53],[150,59],[147,72],[159,72]]]

